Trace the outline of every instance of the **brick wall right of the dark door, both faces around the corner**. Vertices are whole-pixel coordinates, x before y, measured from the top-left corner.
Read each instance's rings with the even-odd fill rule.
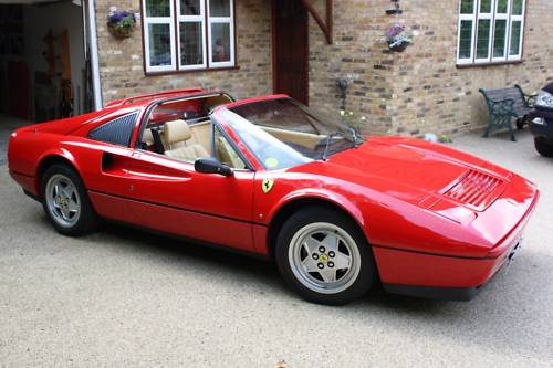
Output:
[[[322,9],[323,0],[317,1]],[[515,83],[532,93],[553,78],[551,0],[526,0],[523,62],[456,66],[459,0],[401,0],[404,14],[386,15],[388,0],[334,1],[334,45],[311,22],[311,101],[336,114],[335,80],[348,77],[347,109],[366,116],[372,134],[458,134],[487,123],[479,88]],[[386,31],[405,24],[417,35],[404,53],[390,53]]]

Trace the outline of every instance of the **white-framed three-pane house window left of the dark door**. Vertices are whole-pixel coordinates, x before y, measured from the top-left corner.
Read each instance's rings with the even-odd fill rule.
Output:
[[[143,0],[146,72],[236,65],[233,0]]]

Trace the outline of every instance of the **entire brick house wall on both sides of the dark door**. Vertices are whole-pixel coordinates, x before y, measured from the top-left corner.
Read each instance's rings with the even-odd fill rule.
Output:
[[[136,93],[167,88],[220,88],[234,96],[272,93],[271,1],[236,0],[237,71],[145,76],[140,27],[132,39],[115,40],[105,19],[109,6],[139,10],[138,0],[98,0],[97,27],[104,103]],[[551,0],[526,0],[523,63],[456,66],[459,0],[403,0],[405,13],[386,15],[389,0],[334,1],[334,44],[310,18],[310,102],[337,116],[336,87],[346,77],[348,111],[364,133],[421,136],[457,134],[487,122],[478,90],[521,84],[534,92],[553,76]],[[315,0],[324,12],[325,0]],[[386,31],[396,22],[417,33],[404,53],[389,52]],[[362,117],[365,119],[362,120]]]

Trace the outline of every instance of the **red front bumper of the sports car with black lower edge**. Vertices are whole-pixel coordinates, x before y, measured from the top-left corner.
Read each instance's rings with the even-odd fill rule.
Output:
[[[515,252],[539,194],[514,229],[486,257],[451,256],[373,246],[383,286],[389,293],[468,301]]]

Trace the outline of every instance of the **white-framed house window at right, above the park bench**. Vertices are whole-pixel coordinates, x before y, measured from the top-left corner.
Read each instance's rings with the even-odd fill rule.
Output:
[[[520,61],[525,0],[460,0],[457,64]]]

